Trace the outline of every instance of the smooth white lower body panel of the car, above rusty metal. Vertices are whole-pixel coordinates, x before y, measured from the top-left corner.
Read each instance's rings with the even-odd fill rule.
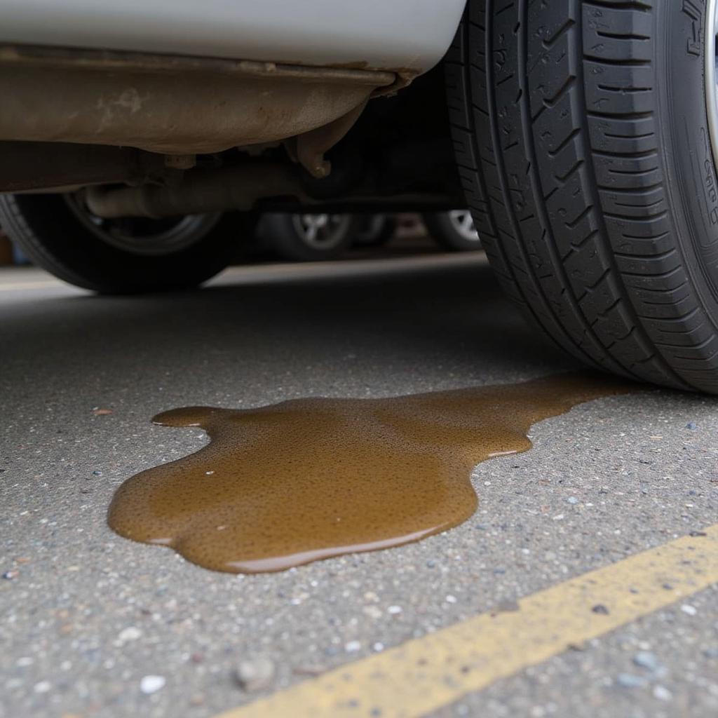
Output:
[[[0,0],[0,43],[425,71],[465,0]]]

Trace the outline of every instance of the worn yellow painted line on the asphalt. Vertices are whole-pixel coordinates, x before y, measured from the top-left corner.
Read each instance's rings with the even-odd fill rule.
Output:
[[[718,583],[718,525],[217,718],[411,718]],[[598,607],[598,608],[596,608]]]

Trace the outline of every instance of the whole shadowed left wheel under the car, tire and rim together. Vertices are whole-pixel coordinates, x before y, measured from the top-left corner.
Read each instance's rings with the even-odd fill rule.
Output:
[[[246,219],[102,220],[78,195],[0,195],[0,224],[37,265],[95,292],[197,286],[224,269]]]

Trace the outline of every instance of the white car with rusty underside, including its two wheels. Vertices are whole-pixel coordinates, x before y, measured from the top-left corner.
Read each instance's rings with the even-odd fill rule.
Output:
[[[717,5],[0,0],[0,223],[141,292],[222,269],[232,213],[468,206],[561,348],[718,392]]]

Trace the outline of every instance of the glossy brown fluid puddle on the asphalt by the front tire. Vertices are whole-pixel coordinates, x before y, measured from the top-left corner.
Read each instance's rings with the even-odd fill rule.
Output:
[[[474,513],[473,467],[530,449],[536,421],[637,390],[564,374],[388,399],[165,411],[157,424],[201,426],[210,444],[124,482],[108,523],[237,573],[418,541]]]

